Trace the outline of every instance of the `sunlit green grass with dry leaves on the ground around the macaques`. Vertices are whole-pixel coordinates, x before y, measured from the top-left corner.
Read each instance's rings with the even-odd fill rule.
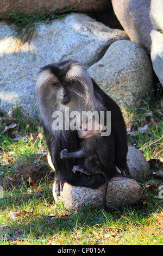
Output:
[[[152,117],[145,115],[147,111],[153,114]],[[124,111],[130,132],[137,132],[128,136],[129,142],[142,151],[147,161],[162,161],[162,117],[161,96],[154,100],[153,94],[141,100],[141,107],[126,108]],[[64,205],[57,205],[53,201],[54,172],[47,161],[37,160],[38,155],[35,155],[47,151],[43,138],[31,137],[31,134],[37,136],[40,133],[39,122],[24,116],[21,108],[14,109],[11,120],[3,117],[1,121],[1,245],[163,244],[163,204],[162,199],[158,198],[158,187],[162,185],[160,177],[157,179],[153,176],[142,184],[144,197],[136,205],[123,206],[121,210],[112,209],[110,212],[99,208],[81,209],[78,212],[66,210]],[[11,122],[16,127],[3,132]],[[139,127],[145,124],[148,124],[151,133],[139,132]],[[28,136],[27,142],[16,141],[13,130],[20,137]],[[34,169],[29,171],[31,166]],[[30,175],[35,184],[27,179]],[[154,187],[151,185],[153,180]]]

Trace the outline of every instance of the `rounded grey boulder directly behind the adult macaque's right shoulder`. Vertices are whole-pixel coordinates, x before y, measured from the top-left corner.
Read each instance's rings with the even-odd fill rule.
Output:
[[[128,40],[111,44],[104,57],[87,71],[120,106],[139,106],[137,99],[147,96],[153,86],[152,65],[146,52]]]

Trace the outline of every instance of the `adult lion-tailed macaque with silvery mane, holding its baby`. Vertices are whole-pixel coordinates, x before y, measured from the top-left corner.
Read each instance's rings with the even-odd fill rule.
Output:
[[[67,129],[65,107],[69,107],[70,113],[78,111],[81,114],[82,111],[111,111],[111,134],[100,137],[101,147],[110,149],[109,156],[103,151],[103,158],[108,160],[109,170],[110,166],[115,164],[122,175],[125,172],[126,176],[131,177],[126,163],[128,151],[126,125],[120,108],[98,87],[81,63],[67,60],[43,67],[36,83],[36,96],[47,147],[55,167],[57,196],[60,195],[64,182],[72,186],[90,188],[97,188],[105,182],[102,173],[87,175],[72,172],[73,166],[83,166],[84,159],[60,159],[62,149],[67,149],[68,152],[77,151],[82,140],[77,130]],[[53,121],[60,112],[64,115],[62,120],[64,124],[63,129],[57,130]],[[116,175],[115,169],[110,172]]]

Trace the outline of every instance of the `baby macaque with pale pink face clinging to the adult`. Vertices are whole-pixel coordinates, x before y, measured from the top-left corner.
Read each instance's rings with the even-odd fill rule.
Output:
[[[89,122],[82,123],[81,129],[78,131],[78,135],[83,139],[80,149],[69,153],[67,149],[64,149],[60,153],[61,159],[71,159],[71,158],[83,158],[84,162],[83,166],[73,166],[72,172],[77,173],[85,173],[87,175],[102,173],[105,179],[105,187],[104,187],[104,196],[103,196],[103,205],[104,210],[108,210],[106,206],[106,192],[108,189],[108,182],[111,176],[116,175],[116,166],[114,163],[114,159],[112,159],[112,138],[110,136],[110,147],[108,147],[108,143],[101,145],[101,132],[102,126],[101,124],[95,123],[97,120],[93,121],[93,124],[89,125]],[[97,129],[95,129],[95,126]],[[110,157],[110,159],[106,158],[106,155]],[[111,164],[110,164],[111,163]]]

